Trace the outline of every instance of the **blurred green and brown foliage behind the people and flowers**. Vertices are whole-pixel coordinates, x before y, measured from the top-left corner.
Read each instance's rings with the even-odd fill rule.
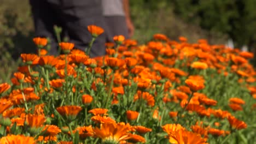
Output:
[[[20,53],[33,50],[33,22],[28,0],[0,3],[0,82],[7,82],[19,64]],[[198,39],[210,44],[233,41],[234,47],[248,47],[255,53],[255,5],[255,0],[130,0],[136,28],[132,39],[143,44],[153,34],[162,33],[173,40],[187,37],[190,43]]]

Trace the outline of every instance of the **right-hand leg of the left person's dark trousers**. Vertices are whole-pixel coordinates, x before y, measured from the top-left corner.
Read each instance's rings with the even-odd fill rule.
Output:
[[[61,20],[65,23],[68,36],[75,48],[85,50],[92,37],[88,31],[89,25],[96,25],[104,28],[101,0],[62,0],[59,10]],[[101,34],[92,45],[91,57],[103,56],[106,54],[104,43],[105,33]]]

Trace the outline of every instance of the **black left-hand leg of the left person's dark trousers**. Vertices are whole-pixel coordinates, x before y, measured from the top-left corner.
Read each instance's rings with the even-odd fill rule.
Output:
[[[34,31],[36,37],[46,37],[51,41],[51,55],[57,54],[57,40],[54,34],[54,25],[57,24],[57,16],[54,10],[51,9],[50,4],[45,0],[30,0]]]

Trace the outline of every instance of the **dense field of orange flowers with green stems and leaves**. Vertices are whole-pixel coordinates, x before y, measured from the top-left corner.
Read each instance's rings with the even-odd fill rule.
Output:
[[[104,30],[88,26],[86,51],[59,44],[22,53],[0,85],[0,143],[255,143],[253,53],[155,34],[147,44],[114,37],[90,58]]]

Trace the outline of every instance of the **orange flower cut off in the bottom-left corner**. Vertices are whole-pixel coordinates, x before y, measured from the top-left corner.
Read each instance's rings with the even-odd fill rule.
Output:
[[[0,139],[1,144],[36,144],[34,137],[24,135],[8,135]]]

